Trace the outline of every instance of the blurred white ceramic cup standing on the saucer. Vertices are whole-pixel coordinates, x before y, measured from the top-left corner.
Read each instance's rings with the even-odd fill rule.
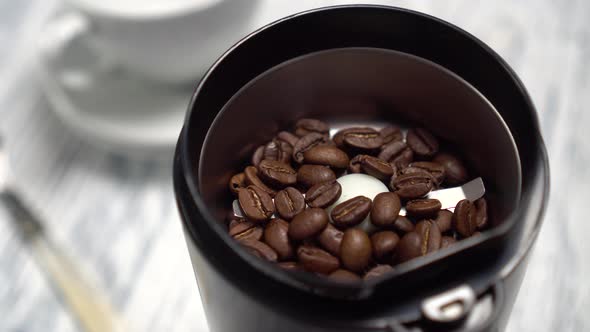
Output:
[[[67,0],[53,22],[108,66],[154,81],[199,79],[252,28],[259,0]]]

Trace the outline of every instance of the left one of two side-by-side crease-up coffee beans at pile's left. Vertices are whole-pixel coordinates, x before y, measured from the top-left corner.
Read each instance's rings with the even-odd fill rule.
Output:
[[[253,222],[266,221],[275,212],[272,198],[264,190],[256,186],[240,189],[238,201],[248,220]]]

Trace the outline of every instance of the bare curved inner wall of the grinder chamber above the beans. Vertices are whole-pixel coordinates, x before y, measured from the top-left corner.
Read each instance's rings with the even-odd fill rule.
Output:
[[[256,147],[303,117],[331,127],[425,127],[454,147],[474,176],[483,178],[492,227],[518,205],[518,151],[508,127],[482,94],[452,72],[413,55],[342,48],[266,71],[219,112],[198,169],[201,196],[219,222],[224,222],[234,199],[230,177],[247,166]]]

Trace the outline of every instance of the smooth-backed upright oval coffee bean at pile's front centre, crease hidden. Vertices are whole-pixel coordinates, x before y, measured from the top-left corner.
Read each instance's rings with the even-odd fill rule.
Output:
[[[365,231],[350,228],[344,232],[340,246],[340,260],[344,267],[361,272],[369,265],[371,255],[371,240]]]

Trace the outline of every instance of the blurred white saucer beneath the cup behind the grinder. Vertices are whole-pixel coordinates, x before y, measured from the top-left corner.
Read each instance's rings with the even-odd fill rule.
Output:
[[[95,53],[51,22],[44,29],[39,72],[55,113],[84,139],[111,150],[172,151],[193,87],[146,82],[107,68]]]

